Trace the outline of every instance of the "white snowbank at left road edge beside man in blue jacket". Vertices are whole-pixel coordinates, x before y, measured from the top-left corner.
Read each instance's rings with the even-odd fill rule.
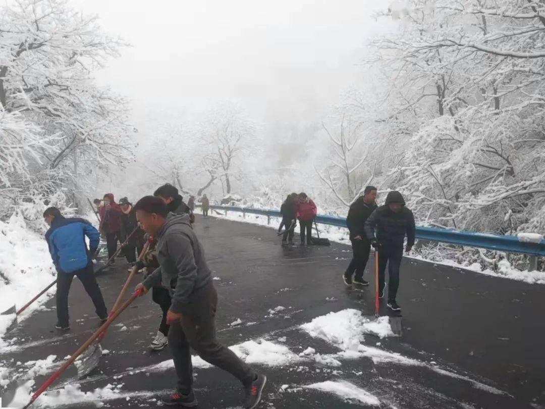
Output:
[[[0,312],[21,308],[55,279],[56,271],[43,236],[27,227],[21,215],[0,220]],[[19,320],[40,308],[55,293],[51,288],[22,312]],[[15,315],[0,315],[0,336]]]

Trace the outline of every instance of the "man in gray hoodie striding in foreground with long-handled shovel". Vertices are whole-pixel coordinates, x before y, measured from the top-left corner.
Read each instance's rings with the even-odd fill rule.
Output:
[[[142,197],[135,210],[142,228],[158,239],[160,264],[136,288],[145,294],[149,288],[162,285],[169,289],[172,297],[167,313],[168,345],[178,383],[176,392],[161,396],[161,401],[167,406],[197,406],[192,389],[191,347],[206,362],[237,377],[246,392],[244,407],[256,407],[267,377],[257,374],[216,340],[217,293],[189,215],[169,213],[166,204],[154,196]]]

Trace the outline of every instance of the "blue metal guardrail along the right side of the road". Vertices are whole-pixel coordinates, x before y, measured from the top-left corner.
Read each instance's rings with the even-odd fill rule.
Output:
[[[258,214],[262,216],[282,217],[278,210],[253,209],[236,206],[216,206],[210,208],[226,212]],[[347,227],[346,219],[338,216],[317,215],[316,222],[338,227]],[[510,253],[522,253],[531,256],[545,256],[545,240],[540,243],[522,242],[516,236],[502,236],[501,234],[476,233],[469,231],[449,230],[435,227],[416,227],[416,238],[432,242],[459,244],[488,250],[498,250]]]

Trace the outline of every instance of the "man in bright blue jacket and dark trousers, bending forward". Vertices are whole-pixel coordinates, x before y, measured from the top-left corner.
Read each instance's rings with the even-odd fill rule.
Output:
[[[44,212],[45,222],[50,225],[45,233],[53,264],[57,269],[57,318],[55,326],[64,331],[70,329],[68,317],[68,292],[74,275],[93,300],[96,315],[101,322],[108,318],[106,305],[93,272],[92,256],[99,246],[100,234],[87,220],[65,218],[56,207]],[[89,238],[89,249],[85,242]]]

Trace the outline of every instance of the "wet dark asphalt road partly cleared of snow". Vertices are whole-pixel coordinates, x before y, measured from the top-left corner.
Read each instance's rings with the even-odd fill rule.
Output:
[[[219,293],[218,338],[223,344],[267,339],[295,353],[309,346],[319,353],[335,353],[335,346],[312,338],[298,326],[347,308],[373,313],[374,287],[360,291],[342,282],[341,274],[351,257],[346,245],[283,248],[272,229],[216,218],[197,218],[195,229],[213,275],[220,278],[214,284]],[[366,273],[369,280],[373,266],[371,257]],[[126,263],[118,258],[114,270],[99,276],[108,308],[127,275]],[[377,347],[380,342],[381,349],[434,362],[460,377],[445,376],[427,366],[373,362],[368,357],[343,359],[340,367],[333,368],[310,361],[276,367],[254,365],[269,378],[259,407],[365,407],[361,402],[303,388],[341,380],[377,396],[380,407],[545,407],[543,288],[404,258],[398,295],[403,336],[379,340],[366,335],[365,344]],[[7,336],[13,348],[0,354],[0,363],[17,371],[29,360],[50,354],[63,358],[74,352],[98,326],[98,318],[77,280],[69,302],[69,333],[52,330],[56,314],[50,300],[46,304],[50,310],[35,312]],[[271,316],[269,309],[279,305],[286,310]],[[384,305],[381,312],[387,314]],[[229,323],[238,318],[243,324],[231,327]],[[120,385],[122,394],[130,394],[129,399],[122,395],[104,401],[105,407],[157,406],[156,394],[172,390],[175,380],[173,369],[146,369],[169,359],[168,348],[160,352],[148,348],[159,325],[159,307],[149,294],[137,299],[118,321],[127,330],[111,327],[102,343],[110,353],[102,357],[99,368],[78,381],[72,367],[52,389],[74,383],[80,383],[83,391]],[[255,324],[245,325],[250,322]],[[195,374],[199,408],[240,407],[242,390],[233,377],[216,368],[195,369]],[[34,379],[41,384],[46,376]],[[476,387],[475,381],[496,392]],[[286,384],[289,387],[281,391]],[[12,382],[3,390],[4,402],[15,386]],[[78,402],[64,407],[96,405]]]

